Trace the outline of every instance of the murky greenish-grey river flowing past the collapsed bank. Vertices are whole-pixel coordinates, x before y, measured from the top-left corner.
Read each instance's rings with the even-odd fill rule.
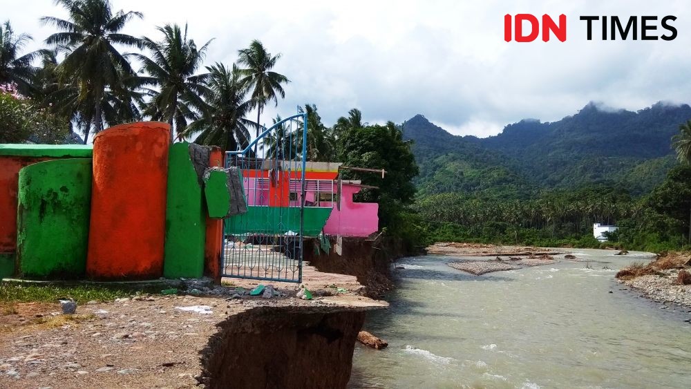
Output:
[[[388,348],[358,344],[349,387],[691,388],[690,310],[614,279],[652,254],[572,251],[591,262],[473,276],[453,257],[399,260],[390,308],[363,327]]]

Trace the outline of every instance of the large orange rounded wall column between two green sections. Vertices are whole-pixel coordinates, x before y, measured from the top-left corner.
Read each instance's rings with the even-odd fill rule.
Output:
[[[170,126],[121,124],[93,140],[86,274],[146,279],[163,274]]]

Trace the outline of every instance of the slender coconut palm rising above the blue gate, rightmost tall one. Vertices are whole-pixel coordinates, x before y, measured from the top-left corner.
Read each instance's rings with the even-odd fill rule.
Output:
[[[238,64],[247,66],[238,70],[243,77],[240,82],[252,89],[252,100],[257,108],[257,124],[261,126],[259,120],[264,107],[272,100],[278,106],[278,96],[285,98],[285,91],[281,84],[287,84],[290,80],[272,71],[272,68],[276,66],[276,61],[281,58],[281,53],[272,57],[261,41],[255,39],[249,44],[249,48],[239,50],[238,54]],[[259,127],[257,127],[256,136],[259,136]]]

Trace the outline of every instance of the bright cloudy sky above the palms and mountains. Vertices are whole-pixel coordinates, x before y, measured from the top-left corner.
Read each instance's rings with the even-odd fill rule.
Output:
[[[207,64],[233,63],[252,39],[281,53],[274,70],[291,82],[263,113],[269,124],[309,103],[327,125],[359,108],[369,123],[420,113],[456,135],[486,137],[524,118],[559,120],[590,101],[632,111],[691,102],[691,7],[681,0],[113,0],[113,8],[142,12],[123,32],[154,40],[156,26],[188,23],[198,44],[214,39]],[[0,0],[0,10],[16,32],[34,37],[29,50],[53,32],[39,17],[66,17],[53,0]],[[504,15],[518,13],[566,15],[567,40],[505,42]],[[602,41],[596,24],[587,41],[582,15],[674,15],[679,33]]]

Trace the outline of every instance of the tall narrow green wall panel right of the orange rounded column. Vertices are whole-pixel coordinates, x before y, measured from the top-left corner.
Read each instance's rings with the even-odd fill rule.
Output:
[[[173,144],[169,151],[167,196],[163,276],[200,278],[204,272],[206,218],[202,188],[187,142]]]

